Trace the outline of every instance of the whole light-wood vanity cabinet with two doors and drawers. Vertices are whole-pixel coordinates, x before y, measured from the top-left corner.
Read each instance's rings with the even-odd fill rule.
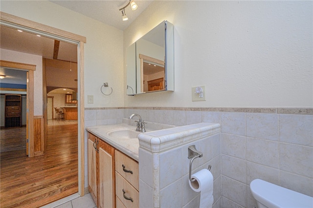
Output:
[[[88,132],[88,189],[98,208],[138,208],[138,172],[137,161]]]

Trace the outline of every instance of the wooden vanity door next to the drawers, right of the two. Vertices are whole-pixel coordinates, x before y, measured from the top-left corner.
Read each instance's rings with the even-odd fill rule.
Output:
[[[115,207],[114,148],[99,139],[99,208]]]

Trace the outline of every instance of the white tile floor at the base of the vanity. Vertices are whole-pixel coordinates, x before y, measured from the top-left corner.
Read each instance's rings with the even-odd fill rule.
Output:
[[[42,208],[96,208],[96,205],[94,204],[90,193],[88,193],[83,197],[79,197],[78,194],[73,194],[59,201],[45,205]]]

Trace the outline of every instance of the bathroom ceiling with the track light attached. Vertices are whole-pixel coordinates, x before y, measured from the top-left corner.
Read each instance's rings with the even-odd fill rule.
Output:
[[[134,0],[138,5],[136,10],[130,6],[125,8],[128,21],[122,21],[120,8],[127,5],[129,0],[49,0],[89,18],[109,24],[120,30],[125,30],[153,0]]]

